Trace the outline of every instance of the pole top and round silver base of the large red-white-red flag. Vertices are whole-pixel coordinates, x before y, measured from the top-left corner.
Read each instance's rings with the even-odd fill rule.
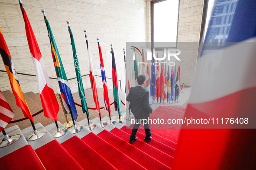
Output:
[[[21,0],[19,0],[19,6],[23,8],[23,4],[22,4]],[[21,12],[22,12],[23,19],[24,19],[24,13],[23,13],[23,11],[21,11]],[[36,130],[36,127],[35,127],[34,123],[32,122],[32,120],[30,118],[29,118],[29,120],[32,125],[33,132],[29,133],[29,135],[26,136],[26,140],[34,141],[39,138],[42,138],[47,133],[47,130],[46,129]]]

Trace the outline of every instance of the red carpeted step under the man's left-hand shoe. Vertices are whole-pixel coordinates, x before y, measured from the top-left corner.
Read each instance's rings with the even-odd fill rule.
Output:
[[[128,133],[123,132],[118,128],[114,128],[113,130],[110,131],[110,133],[113,133],[114,135],[118,136],[120,139],[123,139],[124,141],[129,143],[130,135]],[[171,167],[173,157],[171,157],[170,155],[165,154],[164,152],[150,146],[144,141],[142,142],[140,139],[138,139],[132,145],[138,148],[139,150],[145,152],[146,154],[154,157],[156,160],[162,162],[162,164],[165,164],[166,166]]]

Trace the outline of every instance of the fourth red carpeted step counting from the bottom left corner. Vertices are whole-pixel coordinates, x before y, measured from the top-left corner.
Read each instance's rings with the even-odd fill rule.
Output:
[[[103,139],[95,135],[94,133],[89,133],[84,138],[81,139],[87,145],[94,149],[98,154],[104,157],[110,164],[116,167],[118,170],[146,170],[137,162],[133,161],[130,157],[123,154],[121,151],[114,148],[109,143],[105,142]],[[122,160],[122,162],[120,161]]]

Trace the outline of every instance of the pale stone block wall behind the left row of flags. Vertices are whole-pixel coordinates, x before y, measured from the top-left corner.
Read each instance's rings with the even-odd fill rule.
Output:
[[[41,8],[52,28],[55,41],[62,58],[68,79],[75,77],[72,47],[66,20],[70,20],[78,52],[81,74],[89,74],[88,53],[83,30],[87,30],[94,64],[94,74],[100,73],[97,47],[98,37],[102,47],[106,76],[112,78],[112,57],[110,43],[113,44],[117,65],[117,78],[122,79],[124,90],[123,47],[126,41],[147,41],[145,0],[23,0],[30,24],[35,33],[49,77],[56,77],[52,61],[49,38]],[[10,50],[17,72],[35,75],[35,69],[26,39],[23,16],[18,0],[0,0],[0,28]],[[0,62],[0,70],[5,70]],[[23,92],[38,92],[36,77],[18,75]],[[88,76],[83,78],[84,88],[91,88]],[[107,79],[108,88],[113,88]],[[51,79],[52,87],[59,91],[57,80]],[[102,87],[101,77],[96,77],[97,87]],[[76,79],[70,80],[72,93],[78,92]],[[0,90],[11,90],[8,76],[0,72]]]

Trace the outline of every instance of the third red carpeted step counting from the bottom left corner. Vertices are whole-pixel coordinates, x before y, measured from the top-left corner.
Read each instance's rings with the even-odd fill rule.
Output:
[[[79,133],[79,132],[78,132]],[[73,136],[61,144],[84,169],[116,170],[107,160],[84,143],[77,136]]]

